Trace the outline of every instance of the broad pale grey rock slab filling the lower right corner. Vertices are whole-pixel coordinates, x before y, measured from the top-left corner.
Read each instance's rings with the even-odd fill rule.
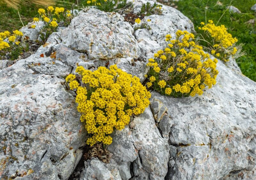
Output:
[[[217,66],[217,84],[202,96],[152,93],[172,117],[169,144],[177,147],[166,179],[256,179],[256,84]]]

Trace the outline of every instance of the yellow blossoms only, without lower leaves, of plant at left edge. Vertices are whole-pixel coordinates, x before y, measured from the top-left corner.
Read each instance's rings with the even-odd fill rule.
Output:
[[[13,31],[12,35],[9,31],[0,32],[0,51],[8,47],[14,48],[15,45],[19,45],[20,41],[18,39],[20,36],[23,36],[23,33],[18,30]],[[6,38],[8,38],[9,43],[8,41],[4,41]]]

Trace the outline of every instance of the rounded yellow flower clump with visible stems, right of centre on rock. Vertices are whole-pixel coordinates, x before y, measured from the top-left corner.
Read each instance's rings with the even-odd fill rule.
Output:
[[[203,51],[194,40],[194,34],[176,32],[176,39],[170,34],[165,37],[168,47],[154,54],[148,60],[148,87],[173,97],[202,95],[206,86],[216,84],[217,59]]]

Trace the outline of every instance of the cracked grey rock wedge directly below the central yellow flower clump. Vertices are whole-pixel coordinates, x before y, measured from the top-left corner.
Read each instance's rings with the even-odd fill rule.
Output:
[[[130,127],[113,134],[108,146],[118,164],[133,166],[133,179],[164,179],[169,160],[169,146],[161,137],[149,108],[130,122]],[[119,169],[119,171],[121,168]],[[129,179],[131,176],[122,176]]]

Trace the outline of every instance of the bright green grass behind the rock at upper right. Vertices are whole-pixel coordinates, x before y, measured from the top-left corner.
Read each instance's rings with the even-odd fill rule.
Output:
[[[217,2],[222,5],[217,4]],[[172,3],[177,5],[177,9],[191,19],[197,31],[200,22],[205,22],[205,7],[207,7],[207,21],[211,19],[216,24],[224,11],[226,11],[230,0],[180,0],[170,4]],[[228,32],[238,39],[238,43],[245,44],[243,51],[246,55],[236,59],[236,62],[242,73],[253,81],[256,81],[256,24],[248,24],[246,22],[256,18],[256,13],[251,11],[251,7],[255,3],[256,0],[232,1],[231,5],[238,8],[242,13],[237,14],[226,11],[218,23],[218,25],[225,25],[228,28]]]

